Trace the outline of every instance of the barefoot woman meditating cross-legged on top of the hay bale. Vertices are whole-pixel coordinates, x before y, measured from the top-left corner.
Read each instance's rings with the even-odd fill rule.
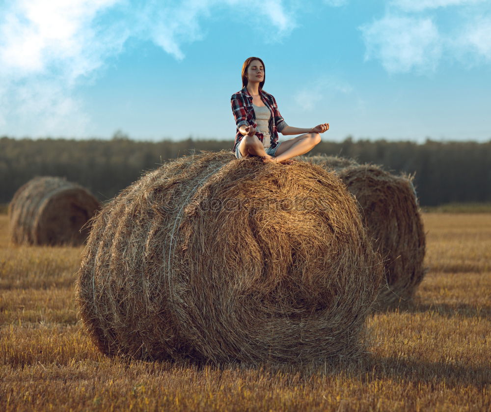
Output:
[[[237,124],[233,151],[238,159],[259,156],[265,163],[291,163],[289,159],[307,153],[321,141],[320,133],[329,129],[329,123],[310,129],[288,126],[274,97],[263,90],[265,77],[259,57],[244,62],[242,90],[231,99]],[[284,136],[303,134],[278,142],[278,132]]]

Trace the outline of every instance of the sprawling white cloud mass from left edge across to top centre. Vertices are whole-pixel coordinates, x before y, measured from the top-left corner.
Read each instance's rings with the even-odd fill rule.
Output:
[[[18,0],[0,3],[0,127],[23,134],[83,135],[89,119],[74,90],[122,52],[131,38],[152,41],[180,60],[204,38],[202,20],[259,14],[274,39],[296,27],[282,0]],[[255,19],[257,20],[257,19]],[[270,40],[271,41],[271,40]],[[74,132],[75,131],[75,132]]]

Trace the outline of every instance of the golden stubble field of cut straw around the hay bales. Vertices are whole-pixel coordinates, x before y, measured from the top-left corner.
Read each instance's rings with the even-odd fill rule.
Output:
[[[11,247],[0,215],[0,411],[489,411],[491,214],[429,213],[416,301],[356,361],[250,367],[108,358],[77,319],[82,247]]]

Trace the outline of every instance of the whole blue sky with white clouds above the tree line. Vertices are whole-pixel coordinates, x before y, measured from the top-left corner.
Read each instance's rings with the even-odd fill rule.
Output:
[[[0,136],[232,142],[251,55],[324,139],[491,139],[489,0],[0,0]]]

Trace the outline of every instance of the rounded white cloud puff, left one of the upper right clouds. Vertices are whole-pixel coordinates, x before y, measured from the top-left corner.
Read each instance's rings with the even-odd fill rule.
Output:
[[[366,59],[378,58],[389,73],[435,70],[441,56],[441,39],[430,18],[385,16],[360,27]]]

